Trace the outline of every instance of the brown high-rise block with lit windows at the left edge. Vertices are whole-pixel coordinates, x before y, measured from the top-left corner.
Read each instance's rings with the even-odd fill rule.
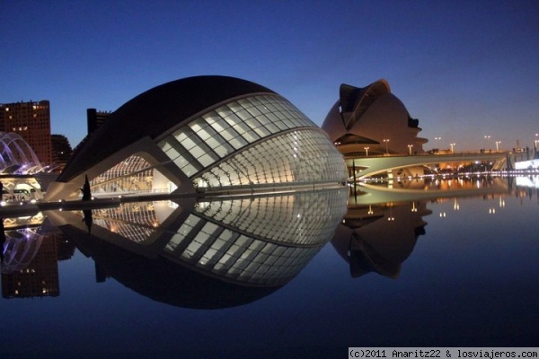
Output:
[[[52,162],[49,101],[0,104],[0,131],[19,134],[42,164]]]

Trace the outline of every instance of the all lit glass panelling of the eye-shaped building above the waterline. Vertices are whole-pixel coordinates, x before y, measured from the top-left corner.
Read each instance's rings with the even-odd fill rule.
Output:
[[[199,190],[339,183],[348,177],[342,155],[323,131],[277,94],[208,110],[157,145]],[[168,163],[152,165],[131,155],[94,178],[92,193],[170,193],[170,183],[184,188],[179,179],[166,182],[158,176]]]

